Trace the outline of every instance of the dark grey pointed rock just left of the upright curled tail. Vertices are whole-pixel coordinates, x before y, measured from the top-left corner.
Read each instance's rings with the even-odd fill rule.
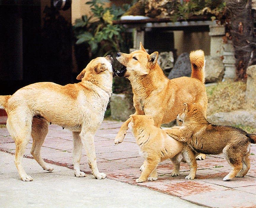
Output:
[[[179,55],[173,69],[168,75],[168,78],[173,79],[183,76],[191,76],[191,63],[189,60],[189,53],[183,53]]]

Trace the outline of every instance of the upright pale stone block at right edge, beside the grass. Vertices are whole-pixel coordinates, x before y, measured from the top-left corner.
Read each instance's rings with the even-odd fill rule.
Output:
[[[256,108],[256,65],[249,66],[246,74],[246,102],[248,107]]]

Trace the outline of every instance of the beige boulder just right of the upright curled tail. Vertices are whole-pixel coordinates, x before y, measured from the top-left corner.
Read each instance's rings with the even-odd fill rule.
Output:
[[[220,57],[205,56],[205,83],[221,81],[224,65]]]

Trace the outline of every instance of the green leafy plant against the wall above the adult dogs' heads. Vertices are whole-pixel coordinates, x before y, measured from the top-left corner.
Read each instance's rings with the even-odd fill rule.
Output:
[[[93,15],[83,15],[74,25],[76,44],[87,44],[92,56],[105,56],[111,52],[120,51],[123,45],[122,25],[113,25],[129,5],[123,7],[103,7],[108,0],[92,0],[86,2],[90,5]]]

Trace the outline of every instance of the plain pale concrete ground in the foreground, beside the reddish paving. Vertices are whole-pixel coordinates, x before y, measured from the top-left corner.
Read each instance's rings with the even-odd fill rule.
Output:
[[[21,181],[14,156],[0,152],[0,207],[199,207],[115,180],[76,178],[67,167],[52,165],[54,171],[47,172],[38,171],[41,167],[34,159],[23,158],[23,164],[33,181]]]

